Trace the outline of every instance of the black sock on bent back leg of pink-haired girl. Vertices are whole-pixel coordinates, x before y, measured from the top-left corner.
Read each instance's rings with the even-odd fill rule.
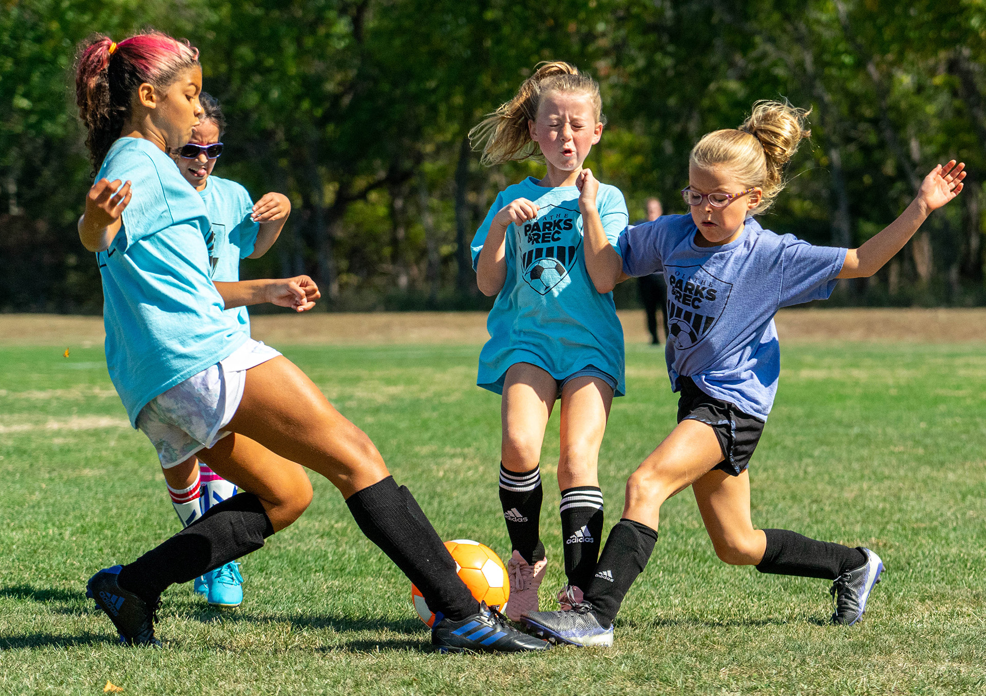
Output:
[[[241,493],[123,566],[117,582],[151,603],[169,586],[187,583],[257,550],[273,533],[260,499]]]

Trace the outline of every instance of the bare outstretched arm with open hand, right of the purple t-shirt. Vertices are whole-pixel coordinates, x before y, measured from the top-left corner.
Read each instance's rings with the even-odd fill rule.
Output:
[[[933,210],[958,195],[965,178],[964,164],[939,165],[921,182],[917,197],[900,217],[859,248],[849,249],[837,278],[869,278],[913,237]],[[588,260],[588,258],[587,258]]]

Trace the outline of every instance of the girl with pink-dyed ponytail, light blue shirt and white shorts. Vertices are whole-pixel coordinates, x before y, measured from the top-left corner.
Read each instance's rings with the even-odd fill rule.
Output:
[[[210,278],[205,205],[167,154],[198,125],[201,89],[197,51],[170,36],[119,44],[96,36],[81,46],[77,102],[99,174],[79,237],[97,252],[106,363],[131,425],[154,443],[163,466],[208,449],[213,470],[243,492],[132,563],[98,572],[87,595],[125,645],[160,645],[161,593],[260,548],[297,520],[312,501],[305,465],[339,489],[360,529],[421,590],[436,614],[432,643],[440,650],[547,649],[473,598],[366,434],[225,312],[262,302],[304,312],[319,294],[306,276]]]

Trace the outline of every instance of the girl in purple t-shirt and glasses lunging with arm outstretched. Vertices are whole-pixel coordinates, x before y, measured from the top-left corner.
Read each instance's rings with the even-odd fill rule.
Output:
[[[536,612],[535,632],[577,645],[611,645],[620,603],[647,565],[662,504],[691,486],[716,555],[761,573],[832,581],[832,622],[854,624],[883,564],[870,549],[816,541],[750,519],[747,465],[777,391],[774,314],[827,299],[839,278],[869,277],[962,189],[952,161],[925,177],[907,210],[856,249],[813,246],[753,219],[784,188],[785,165],[810,135],[800,108],[754,104],[740,128],[717,130],[691,151],[682,191],[690,215],[627,228],[620,253],[598,216],[586,215],[586,266],[599,292],[630,276],[668,281],[668,372],[680,391],[678,425],[630,476],[623,515],[609,532],[585,601],[576,611]],[[583,196],[596,182],[583,183]]]

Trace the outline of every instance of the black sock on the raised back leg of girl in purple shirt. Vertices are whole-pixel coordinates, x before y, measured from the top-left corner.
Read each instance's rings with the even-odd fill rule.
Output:
[[[756,566],[761,573],[835,580],[867,561],[858,548],[816,541],[797,531],[764,529],[763,533],[767,535],[767,550]]]

